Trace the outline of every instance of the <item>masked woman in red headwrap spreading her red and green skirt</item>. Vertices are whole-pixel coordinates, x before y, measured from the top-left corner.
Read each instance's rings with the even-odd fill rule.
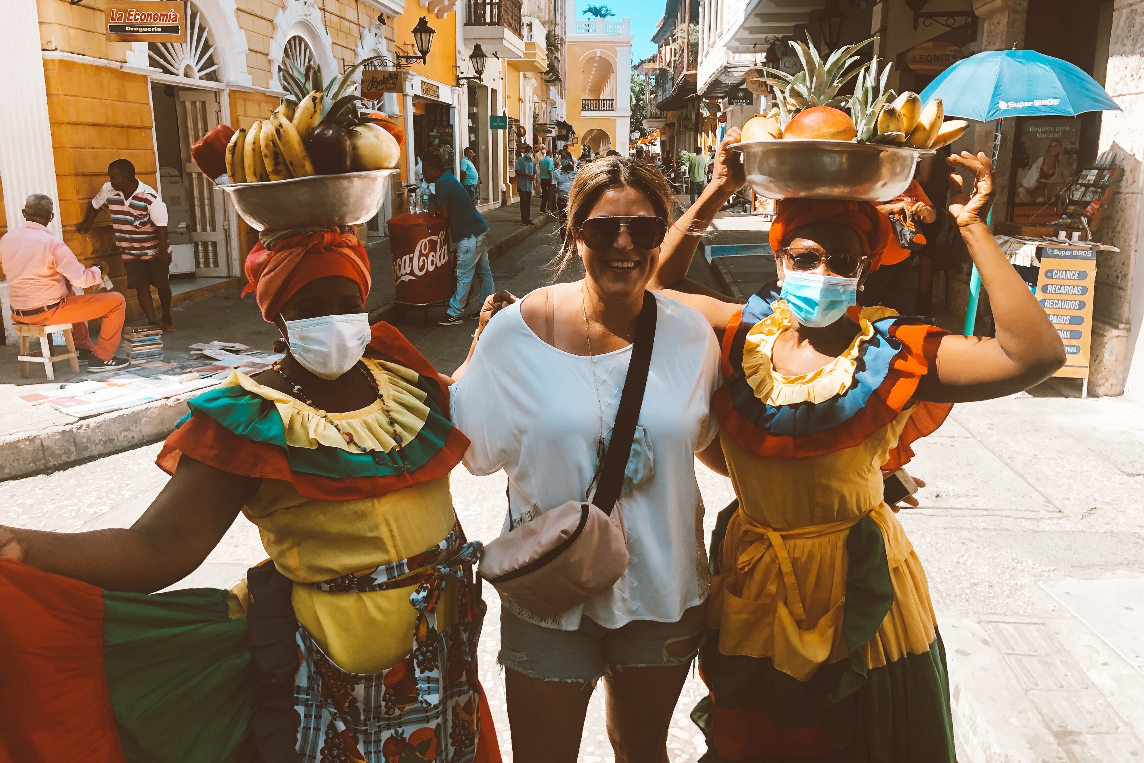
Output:
[[[477,681],[479,543],[448,472],[468,439],[350,233],[247,257],[289,351],[189,402],[130,530],[0,527],[0,750],[18,761],[498,763]],[[237,514],[269,559],[166,594]],[[149,595],[150,594],[150,595]],[[5,757],[0,755],[0,757]]]

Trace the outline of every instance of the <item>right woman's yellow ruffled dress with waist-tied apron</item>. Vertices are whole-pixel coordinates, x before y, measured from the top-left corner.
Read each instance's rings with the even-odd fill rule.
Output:
[[[738,501],[713,534],[693,714],[717,760],[954,761],[925,575],[882,501],[882,470],[952,407],[916,399],[945,332],[850,316],[850,347],[795,376],[771,363],[781,300],[753,296],[724,335],[713,408]]]

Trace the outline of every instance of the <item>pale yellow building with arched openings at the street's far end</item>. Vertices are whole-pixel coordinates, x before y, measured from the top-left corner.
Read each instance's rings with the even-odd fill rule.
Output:
[[[593,153],[628,153],[631,117],[631,40],[629,18],[575,16],[567,2],[567,121]],[[579,156],[580,150],[569,146]]]

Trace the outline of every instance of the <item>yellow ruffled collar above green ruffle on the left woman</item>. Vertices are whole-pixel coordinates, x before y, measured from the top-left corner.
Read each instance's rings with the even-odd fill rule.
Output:
[[[400,435],[403,443],[411,443],[421,431],[429,418],[429,406],[424,404],[427,395],[416,387],[415,371],[386,360],[363,358],[363,363],[378,380],[378,388],[386,397],[386,407],[392,414],[392,423],[380,399],[358,411],[327,414],[237,371],[223,382],[223,387],[239,386],[273,403],[286,430],[286,443],[292,447],[327,445],[348,453],[360,453],[360,447],[388,453],[397,446],[395,435]],[[327,415],[337,423],[336,428],[326,421]],[[352,445],[345,442],[342,432],[353,436]]]

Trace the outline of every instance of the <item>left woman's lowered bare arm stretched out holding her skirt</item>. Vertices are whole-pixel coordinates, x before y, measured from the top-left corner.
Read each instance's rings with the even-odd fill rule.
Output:
[[[0,526],[0,558],[108,590],[151,594],[202,564],[261,482],[183,455],[130,528],[55,533]]]

